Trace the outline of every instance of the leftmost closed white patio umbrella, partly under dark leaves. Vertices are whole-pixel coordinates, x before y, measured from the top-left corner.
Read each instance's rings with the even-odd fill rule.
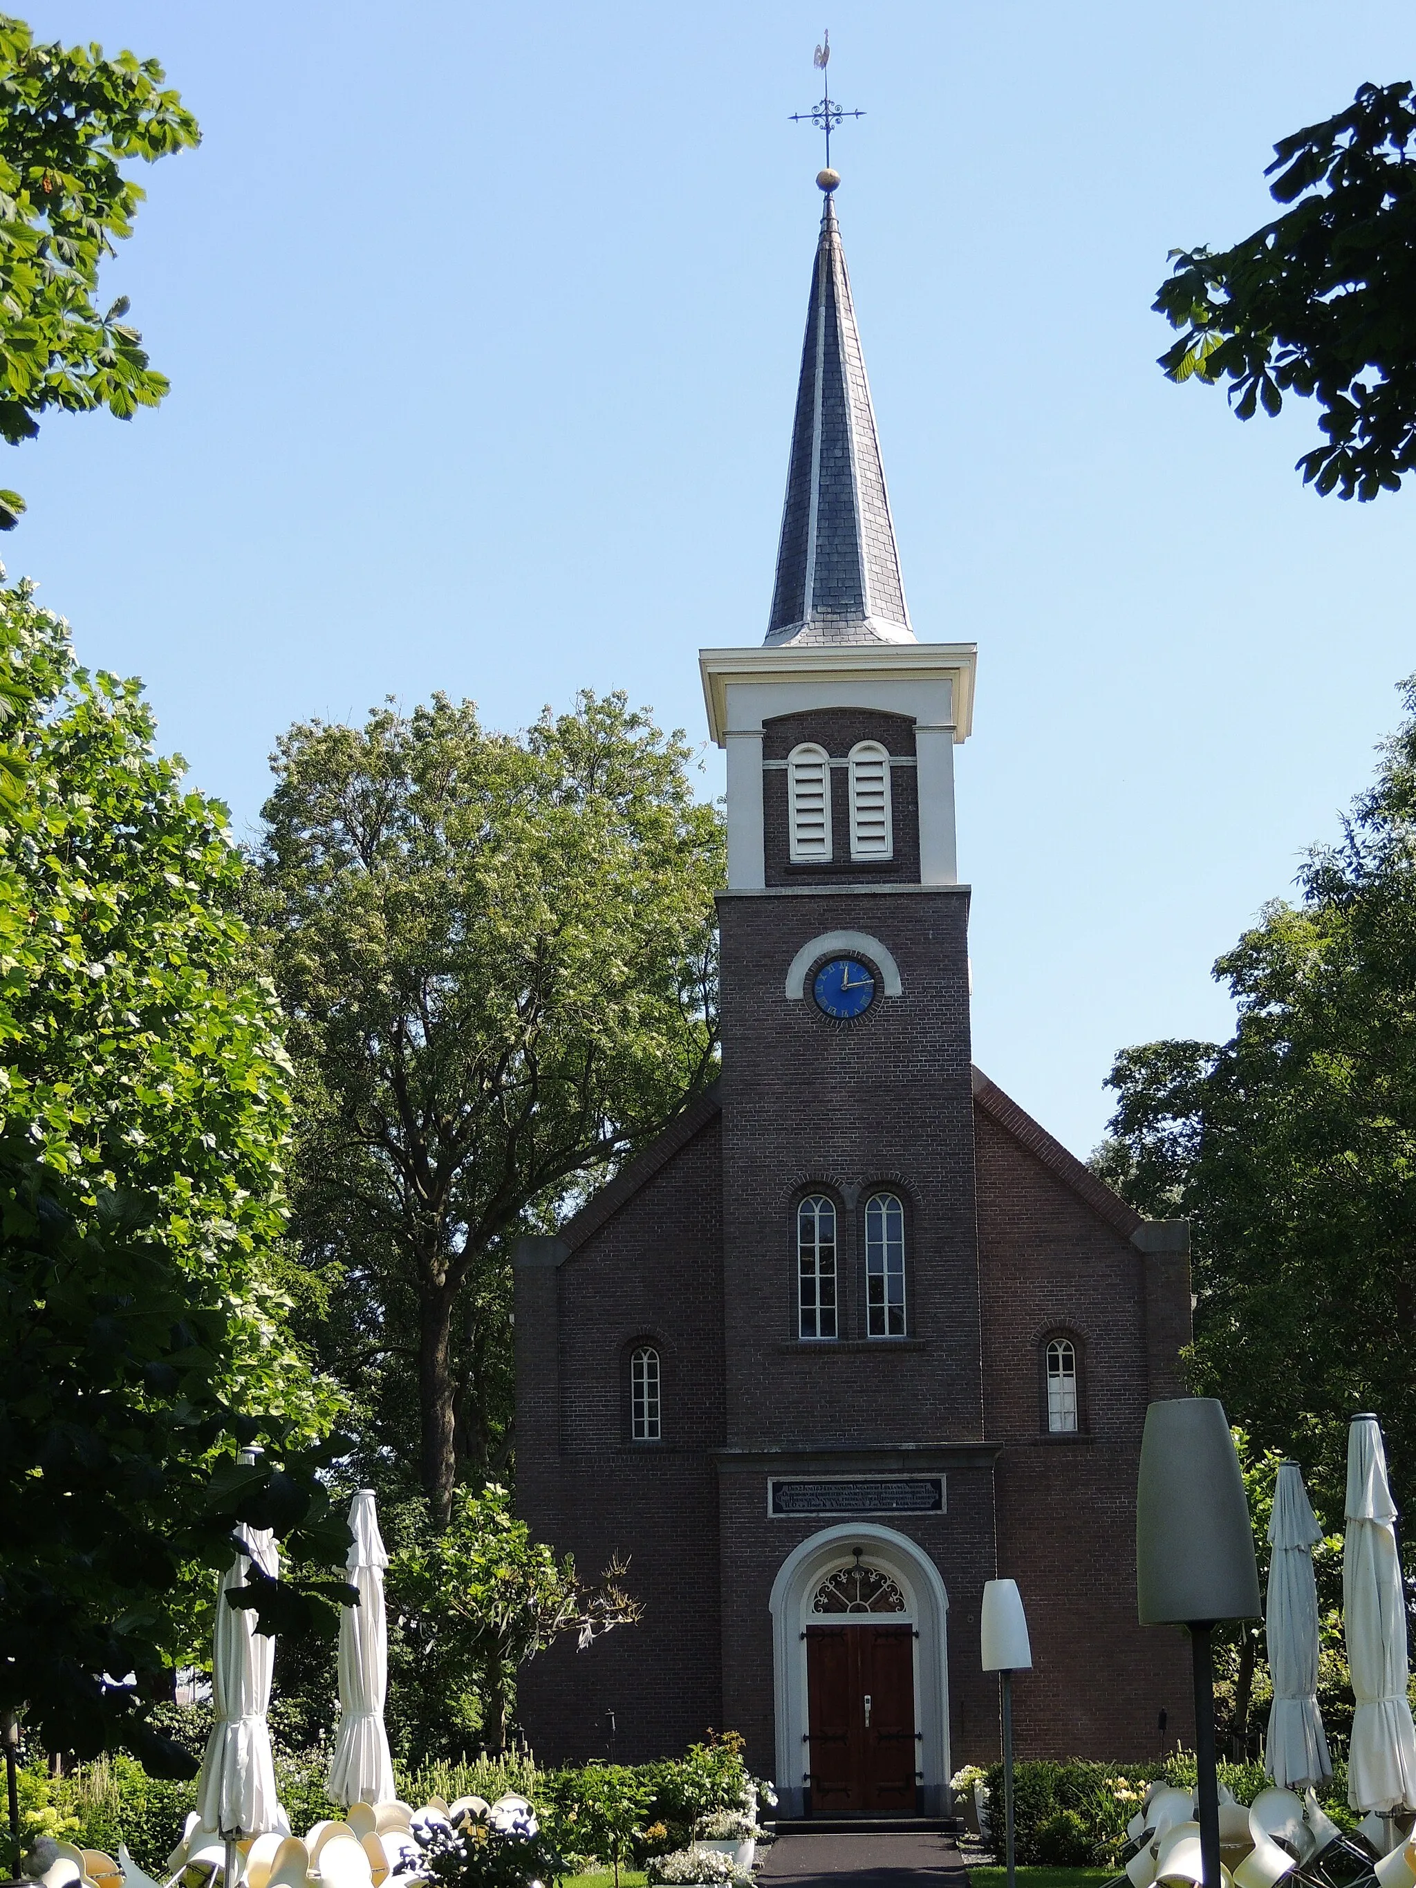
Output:
[[[253,1459],[253,1458],[251,1458]],[[259,1527],[242,1527],[245,1554],[238,1554],[217,1586],[217,1627],[211,1658],[211,1703],[217,1722],[206,1741],[202,1769],[196,1777],[196,1831],[189,1848],[196,1848],[200,1833],[219,1835],[227,1845],[227,1884],[234,1875],[234,1843],[245,1835],[291,1833],[285,1811],[276,1794],[276,1765],[270,1756],[270,1678],[276,1665],[276,1641],[257,1633],[255,1612],[249,1607],[227,1603],[232,1586],[245,1584],[251,1561],[279,1575],[279,1554],[274,1535]]]

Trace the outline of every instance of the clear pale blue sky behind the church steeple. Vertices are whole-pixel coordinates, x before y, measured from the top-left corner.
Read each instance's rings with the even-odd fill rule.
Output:
[[[383,695],[517,727],[623,687],[704,734],[763,636],[819,196],[819,6],[47,0],[206,142],[108,264],[172,395],[0,461],[0,549],[140,674],[238,833],[276,734]],[[916,631],[959,750],[978,1063],[1076,1152],[1371,774],[1416,668],[1412,504],[1318,500],[1314,413],[1154,366],[1167,249],[1274,138],[1416,74],[1408,6],[846,0],[838,198]],[[708,753],[704,793],[721,791]]]

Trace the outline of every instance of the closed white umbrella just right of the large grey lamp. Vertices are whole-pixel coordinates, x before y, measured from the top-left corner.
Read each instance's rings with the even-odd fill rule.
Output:
[[[1273,1675],[1273,1709],[1265,1763],[1280,1790],[1308,1790],[1333,1775],[1318,1711],[1318,1588],[1312,1548],[1322,1527],[1312,1512],[1303,1471],[1278,1465],[1269,1520],[1269,1599],[1265,1641]]]

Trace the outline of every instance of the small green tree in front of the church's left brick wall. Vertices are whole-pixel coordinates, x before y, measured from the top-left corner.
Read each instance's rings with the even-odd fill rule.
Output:
[[[557,1559],[553,1548],[531,1539],[504,1488],[459,1490],[447,1526],[389,1563],[398,1633],[425,1695],[444,1714],[466,1692],[468,1677],[474,1682],[480,1726],[468,1722],[463,1703],[463,1724],[446,1724],[446,1731],[481,1729],[500,1750],[521,1665],[563,1633],[576,1633],[585,1650],[640,1618],[638,1601],[619,1586],[625,1571],[612,1563],[602,1584],[587,1588],[568,1554]]]

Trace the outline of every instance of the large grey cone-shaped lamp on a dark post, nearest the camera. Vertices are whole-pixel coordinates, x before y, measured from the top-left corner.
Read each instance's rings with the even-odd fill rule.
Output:
[[[1256,1620],[1259,1575],[1244,1476],[1214,1397],[1152,1403],[1137,1486],[1137,1610],[1142,1626],[1188,1626],[1195,1661],[1195,1771],[1205,1888],[1220,1888],[1214,1767],[1216,1620]]]

